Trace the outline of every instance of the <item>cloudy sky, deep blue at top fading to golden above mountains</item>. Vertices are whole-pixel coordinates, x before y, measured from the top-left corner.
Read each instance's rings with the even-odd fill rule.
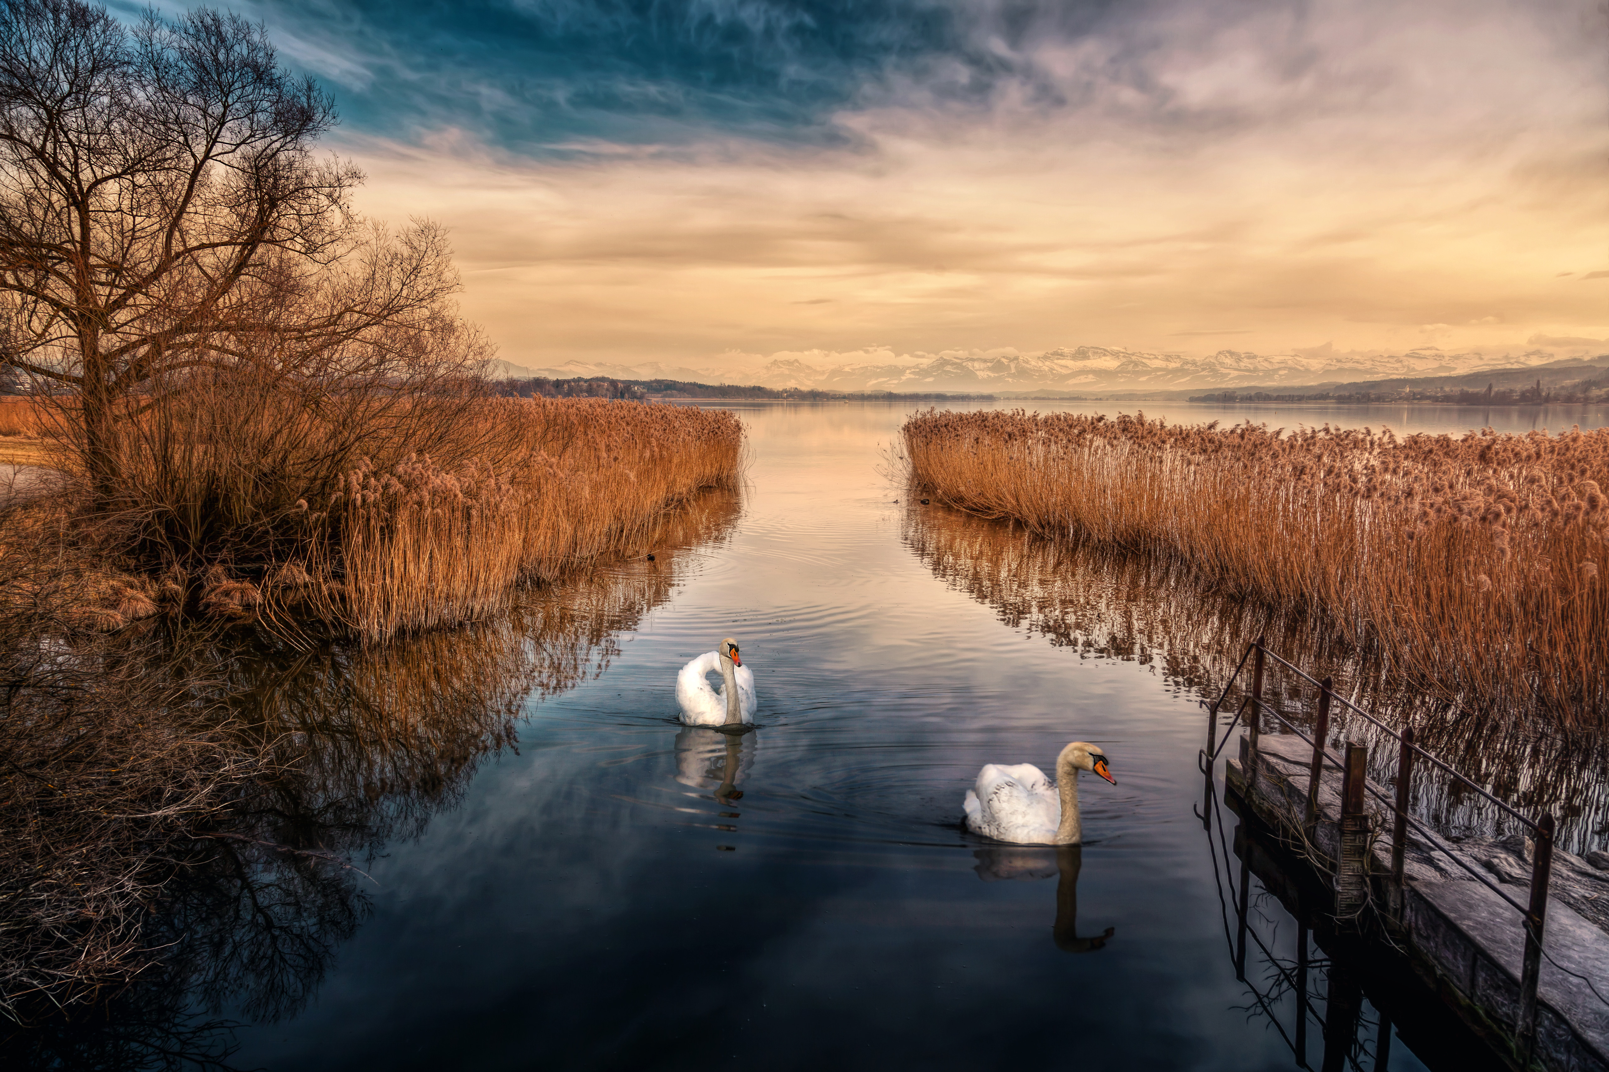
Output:
[[[515,365],[1609,350],[1599,0],[225,6]]]

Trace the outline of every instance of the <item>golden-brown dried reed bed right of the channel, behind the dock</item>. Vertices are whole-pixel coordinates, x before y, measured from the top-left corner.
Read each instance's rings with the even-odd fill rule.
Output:
[[[1609,728],[1609,429],[1398,439],[928,411],[904,452],[944,503],[1321,612],[1446,702]]]

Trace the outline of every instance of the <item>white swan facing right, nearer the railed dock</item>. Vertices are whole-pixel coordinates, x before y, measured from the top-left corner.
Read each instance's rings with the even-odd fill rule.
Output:
[[[1113,786],[1105,752],[1073,741],[1056,757],[1056,781],[1033,763],[985,763],[962,807],[975,834],[1018,845],[1076,845],[1084,839],[1078,818],[1078,771],[1093,770]]]

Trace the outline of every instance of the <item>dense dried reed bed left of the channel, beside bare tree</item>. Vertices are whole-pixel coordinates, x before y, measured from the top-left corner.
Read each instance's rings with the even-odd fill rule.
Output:
[[[507,606],[521,579],[640,554],[669,511],[742,471],[729,410],[508,399],[483,419],[512,439],[500,464],[362,464],[331,495],[328,546],[362,635],[470,620]]]

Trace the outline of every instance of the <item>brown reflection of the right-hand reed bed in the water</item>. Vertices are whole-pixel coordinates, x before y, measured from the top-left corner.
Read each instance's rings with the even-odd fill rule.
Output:
[[[1397,688],[1390,664],[1358,651],[1315,616],[1279,614],[1223,596],[1189,571],[1150,556],[1080,546],[1033,535],[938,505],[904,514],[906,546],[951,588],[996,611],[1001,622],[1041,635],[1083,657],[1133,661],[1171,686],[1205,701],[1220,696],[1249,643],[1270,649],[1313,677],[1332,677],[1335,691],[1389,725],[1413,725],[1419,744],[1522,810],[1551,808],[1558,844],[1577,855],[1609,844],[1609,783],[1604,744],[1482,720]],[[1249,677],[1249,675],[1247,675]],[[1244,680],[1244,678],[1242,678]],[[1318,689],[1270,664],[1265,696],[1311,730]],[[1239,709],[1241,683],[1220,715],[1220,734]],[[1202,714],[1205,734],[1207,715]],[[1265,733],[1289,731],[1265,715]],[[1369,773],[1395,783],[1397,746],[1337,706],[1331,741],[1369,746]],[[1232,747],[1232,744],[1231,744]],[[1453,836],[1512,833],[1495,805],[1419,763],[1413,810]]]

